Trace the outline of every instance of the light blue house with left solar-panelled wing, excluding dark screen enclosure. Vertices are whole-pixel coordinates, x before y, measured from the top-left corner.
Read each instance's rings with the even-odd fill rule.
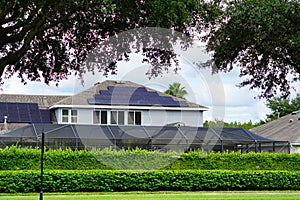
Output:
[[[73,96],[0,95],[1,132],[30,123],[202,126],[207,108],[129,81],[104,81]]]

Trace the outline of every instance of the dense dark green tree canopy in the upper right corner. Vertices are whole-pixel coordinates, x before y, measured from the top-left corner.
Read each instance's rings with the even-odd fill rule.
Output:
[[[299,0],[225,1],[212,23],[207,48],[215,71],[240,68],[240,86],[262,89],[261,96],[290,92],[300,79]],[[289,77],[291,76],[291,77]]]

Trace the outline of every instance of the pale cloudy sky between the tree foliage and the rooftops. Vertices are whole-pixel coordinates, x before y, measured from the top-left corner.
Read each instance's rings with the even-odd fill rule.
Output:
[[[203,50],[202,44],[196,44],[186,51],[177,49],[180,70],[174,73],[170,70],[159,77],[151,78],[146,75],[149,65],[142,62],[138,54],[131,54],[128,62],[118,63],[117,75],[104,77],[101,73],[85,74],[81,80],[70,76],[68,80],[60,82],[59,86],[46,85],[41,82],[28,82],[23,85],[15,76],[5,80],[2,87],[3,94],[40,94],[40,95],[72,95],[93,86],[96,82],[105,80],[126,80],[136,82],[164,92],[169,84],[179,82],[188,92],[188,101],[206,106],[204,120],[224,120],[225,122],[258,122],[266,119],[270,110],[266,107],[265,99],[256,98],[258,90],[239,88],[242,79],[239,71],[234,68],[229,73],[212,74],[211,69],[199,69],[195,63],[205,62],[210,55]],[[300,84],[295,85],[300,88]],[[295,92],[294,92],[295,93]]]

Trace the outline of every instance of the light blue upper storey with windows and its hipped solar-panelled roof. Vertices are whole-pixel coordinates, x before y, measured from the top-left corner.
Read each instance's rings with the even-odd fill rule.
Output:
[[[202,126],[206,107],[130,81],[105,81],[51,105],[59,124]]]

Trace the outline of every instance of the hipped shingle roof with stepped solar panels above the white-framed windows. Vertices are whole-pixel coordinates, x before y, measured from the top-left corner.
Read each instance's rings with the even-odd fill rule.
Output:
[[[141,93],[138,94],[139,92]],[[51,108],[70,105],[180,107],[207,110],[204,106],[173,97],[130,81],[104,81],[102,83],[96,83],[87,90],[62,99],[51,106]]]

